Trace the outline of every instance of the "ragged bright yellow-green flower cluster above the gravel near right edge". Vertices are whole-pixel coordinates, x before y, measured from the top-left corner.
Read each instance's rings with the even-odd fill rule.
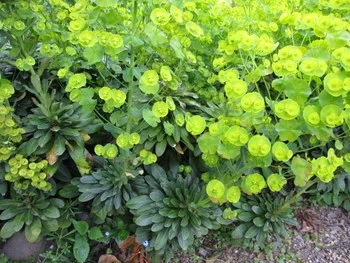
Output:
[[[333,148],[328,150],[327,157],[321,156],[311,161],[312,172],[322,182],[328,183],[334,178],[334,172],[343,165],[343,157],[337,157]]]

